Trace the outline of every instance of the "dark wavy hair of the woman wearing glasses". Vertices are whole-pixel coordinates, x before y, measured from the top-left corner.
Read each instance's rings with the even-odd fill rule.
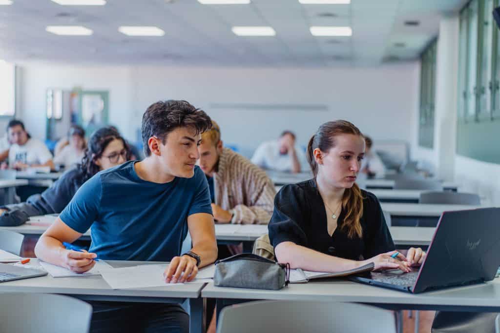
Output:
[[[123,142],[123,146],[126,149],[126,160],[128,161],[130,159],[130,147],[128,147],[128,144],[120,133],[112,127],[99,128],[90,135],[87,142],[87,149],[85,150],[85,156],[83,156],[78,166],[84,182],[100,171],[99,166],[95,164],[95,160],[102,156],[102,152],[106,149],[109,142],[115,139]]]

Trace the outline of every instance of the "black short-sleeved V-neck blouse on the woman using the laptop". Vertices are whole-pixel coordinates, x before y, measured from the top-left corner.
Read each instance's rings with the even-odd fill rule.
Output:
[[[274,211],[268,225],[273,247],[293,242],[309,249],[345,259],[368,259],[394,250],[394,243],[385,224],[380,203],[374,194],[361,190],[363,215],[362,238],[348,238],[342,228],[345,211],[337,219],[337,228],[330,236],[323,199],[314,179],[283,186],[274,198]]]

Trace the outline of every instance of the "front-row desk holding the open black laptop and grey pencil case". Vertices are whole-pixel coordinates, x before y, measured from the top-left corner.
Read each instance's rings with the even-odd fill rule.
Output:
[[[201,297],[215,298],[217,313],[225,306],[255,300],[351,302],[388,310],[500,312],[500,279],[416,295],[334,279],[289,284],[276,291],[222,288],[210,282]]]

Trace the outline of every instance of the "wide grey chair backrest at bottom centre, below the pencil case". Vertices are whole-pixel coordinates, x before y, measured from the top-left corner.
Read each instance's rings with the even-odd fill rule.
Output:
[[[217,325],[217,333],[371,333],[374,329],[395,333],[393,313],[362,304],[295,301],[257,301],[225,307]]]

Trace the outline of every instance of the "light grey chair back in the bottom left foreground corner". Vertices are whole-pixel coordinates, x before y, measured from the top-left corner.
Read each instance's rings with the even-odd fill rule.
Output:
[[[92,307],[68,296],[0,294],[0,332],[87,333]]]

